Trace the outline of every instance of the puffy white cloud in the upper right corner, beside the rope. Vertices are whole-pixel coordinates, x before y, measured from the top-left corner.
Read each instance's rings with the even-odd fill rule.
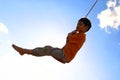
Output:
[[[109,0],[106,5],[107,9],[103,10],[97,16],[100,20],[100,27],[107,32],[108,27],[118,30],[120,27],[120,1]]]

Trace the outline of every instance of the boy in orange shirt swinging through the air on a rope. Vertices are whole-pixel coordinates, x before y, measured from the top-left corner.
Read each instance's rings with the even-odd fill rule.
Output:
[[[24,49],[16,45],[12,47],[19,52],[20,55],[29,54],[33,56],[52,56],[62,63],[69,63],[82,47],[86,39],[85,32],[91,28],[91,22],[87,18],[81,18],[76,29],[68,34],[66,44],[63,48],[53,48],[51,46],[37,47],[35,49]]]

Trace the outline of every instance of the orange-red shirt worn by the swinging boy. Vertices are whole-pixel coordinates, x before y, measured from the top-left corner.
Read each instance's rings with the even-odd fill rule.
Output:
[[[84,33],[68,34],[66,44],[62,48],[67,62],[70,62],[75,57],[76,53],[85,42],[85,39],[86,35]]]

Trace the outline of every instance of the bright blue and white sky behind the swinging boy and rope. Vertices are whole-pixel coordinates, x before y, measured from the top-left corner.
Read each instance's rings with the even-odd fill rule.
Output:
[[[63,47],[95,0],[0,0],[0,80],[120,80],[120,0],[99,0],[74,60],[20,56],[24,48]]]

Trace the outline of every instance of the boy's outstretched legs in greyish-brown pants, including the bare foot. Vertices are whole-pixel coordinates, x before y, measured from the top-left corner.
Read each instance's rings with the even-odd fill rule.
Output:
[[[33,56],[52,56],[56,60],[66,63],[67,60],[65,58],[64,52],[59,48],[53,48],[51,46],[45,46],[43,48],[38,47],[35,49],[23,49],[16,45],[12,45],[12,47],[20,53],[20,55],[30,54]]]

